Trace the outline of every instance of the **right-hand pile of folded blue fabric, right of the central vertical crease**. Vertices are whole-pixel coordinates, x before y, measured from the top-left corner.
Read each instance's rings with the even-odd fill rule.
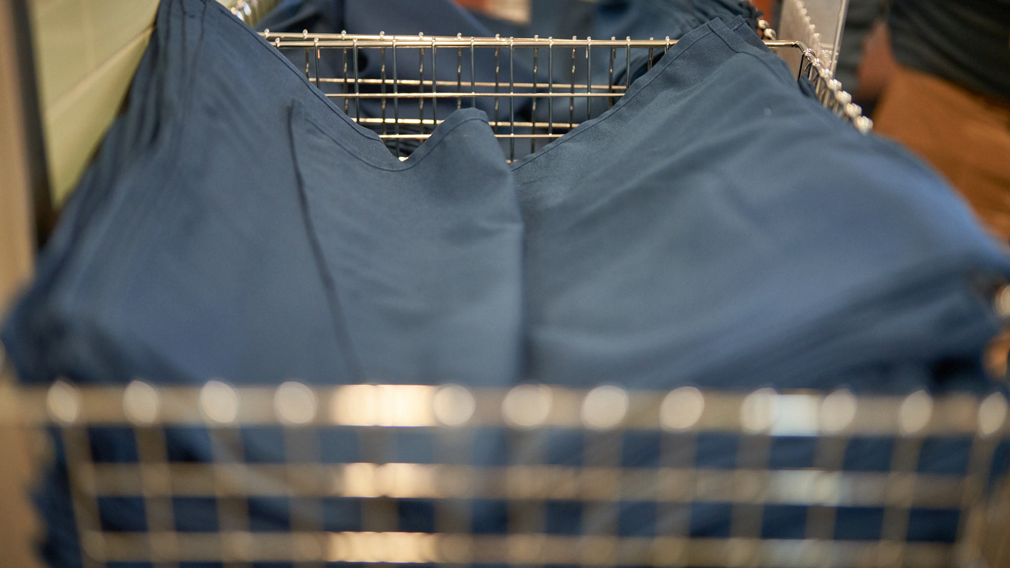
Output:
[[[975,361],[999,328],[971,280],[1005,276],[1003,249],[919,162],[801,94],[742,21],[685,35],[514,168],[534,379],[823,388]]]

